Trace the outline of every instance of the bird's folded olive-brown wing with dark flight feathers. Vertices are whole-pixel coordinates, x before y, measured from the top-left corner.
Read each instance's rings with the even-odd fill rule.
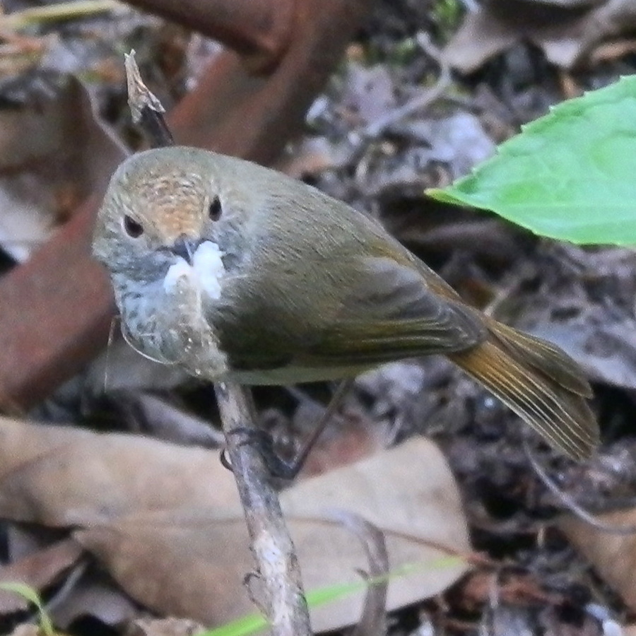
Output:
[[[366,257],[329,324],[299,352],[302,365],[365,365],[481,343],[487,331],[470,307],[433,292],[418,269]]]

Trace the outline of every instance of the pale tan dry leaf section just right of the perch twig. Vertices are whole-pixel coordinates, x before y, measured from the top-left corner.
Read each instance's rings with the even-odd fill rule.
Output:
[[[389,609],[438,594],[468,567],[435,563],[444,553],[430,543],[459,553],[471,548],[461,498],[446,459],[423,437],[298,483],[281,498],[309,589],[355,582],[360,580],[356,570],[367,567],[363,546],[330,521],[329,510],[334,508],[354,512],[384,531],[392,572],[418,565],[410,575],[391,579]],[[351,624],[360,616],[362,602],[363,595],[358,594],[317,608],[314,626],[334,630]]]

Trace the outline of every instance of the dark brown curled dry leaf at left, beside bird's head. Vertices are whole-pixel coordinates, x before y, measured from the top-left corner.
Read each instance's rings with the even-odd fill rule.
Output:
[[[0,245],[18,261],[126,156],[78,79],[47,90],[0,109]]]

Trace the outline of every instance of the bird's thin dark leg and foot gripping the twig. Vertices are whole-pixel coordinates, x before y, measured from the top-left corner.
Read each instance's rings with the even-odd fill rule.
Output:
[[[269,468],[271,476],[291,480],[298,475],[300,469],[304,466],[305,460],[314,447],[314,444],[318,441],[318,438],[322,435],[322,432],[325,430],[338,408],[340,408],[346,394],[348,394],[351,387],[353,387],[353,382],[353,378],[341,380],[338,387],[336,387],[333,396],[331,396],[331,400],[329,401],[324,413],[318,420],[314,430],[312,430],[311,435],[302,444],[302,448],[298,455],[296,455],[296,457],[291,461],[281,459],[281,457],[276,453],[276,450],[273,447],[273,440],[269,432],[265,430],[247,430],[242,428],[237,428],[234,432],[239,435],[245,435],[245,440],[242,440],[240,442],[241,444],[249,444],[250,442],[256,442],[259,444],[259,450],[263,455],[263,459]],[[232,466],[228,464],[225,454],[221,454],[221,463],[225,466],[225,468],[232,470]]]

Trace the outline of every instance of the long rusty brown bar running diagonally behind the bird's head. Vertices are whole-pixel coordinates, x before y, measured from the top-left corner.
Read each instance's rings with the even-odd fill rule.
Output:
[[[255,76],[234,52],[220,55],[168,117],[177,143],[272,163],[300,130],[372,1],[297,0],[293,37],[269,76]],[[0,278],[0,408],[36,404],[107,342],[110,285],[89,247],[98,199]]]

